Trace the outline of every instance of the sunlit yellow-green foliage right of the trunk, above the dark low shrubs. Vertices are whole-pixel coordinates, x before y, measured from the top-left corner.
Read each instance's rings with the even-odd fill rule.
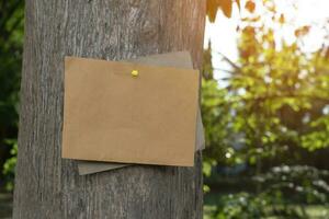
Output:
[[[264,7],[274,24],[284,25],[273,4]],[[328,147],[329,48],[305,53],[300,46],[304,35],[292,44],[282,39],[277,45],[274,28],[266,22],[253,13],[243,18],[240,58],[234,64],[224,57],[232,69],[225,79],[227,88],[209,78],[209,67],[203,73],[206,161],[261,165],[264,159],[285,162],[284,154],[303,148]]]

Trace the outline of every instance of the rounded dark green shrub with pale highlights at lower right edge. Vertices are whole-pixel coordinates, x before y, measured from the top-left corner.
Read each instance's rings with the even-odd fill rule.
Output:
[[[325,204],[329,201],[329,171],[311,166],[274,166],[254,178],[266,185],[263,193],[276,204]],[[276,200],[275,200],[276,199]]]

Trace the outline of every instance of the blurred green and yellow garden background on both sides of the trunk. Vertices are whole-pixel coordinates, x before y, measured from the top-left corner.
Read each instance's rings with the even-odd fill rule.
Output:
[[[239,23],[236,60],[205,43],[206,219],[329,218],[329,19],[292,25],[276,2],[207,0],[207,23],[234,9]],[[23,16],[23,1],[0,2],[0,218],[12,206]],[[310,37],[315,26],[325,36]]]

